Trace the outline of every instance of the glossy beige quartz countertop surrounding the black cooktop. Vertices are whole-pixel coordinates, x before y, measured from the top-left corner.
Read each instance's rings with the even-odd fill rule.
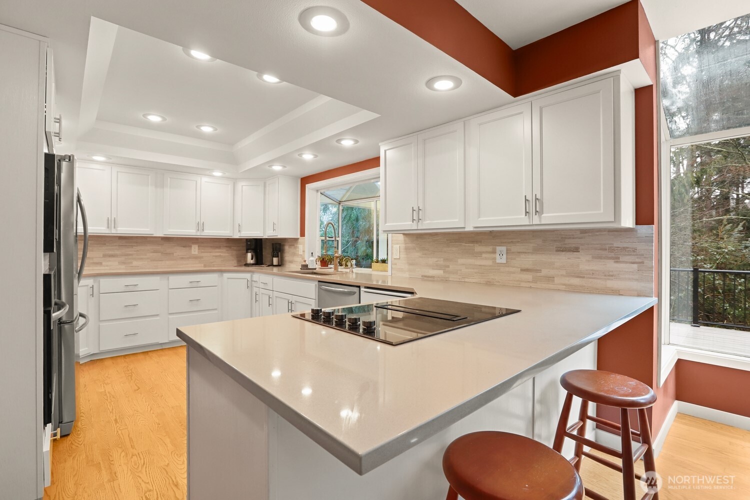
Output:
[[[288,314],[178,328],[191,349],[360,475],[656,304],[650,297],[365,275],[336,278],[521,312],[398,346]]]

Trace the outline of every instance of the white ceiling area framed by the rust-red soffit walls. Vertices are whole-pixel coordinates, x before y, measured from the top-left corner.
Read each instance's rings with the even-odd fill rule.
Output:
[[[511,49],[517,49],[627,0],[456,1]]]

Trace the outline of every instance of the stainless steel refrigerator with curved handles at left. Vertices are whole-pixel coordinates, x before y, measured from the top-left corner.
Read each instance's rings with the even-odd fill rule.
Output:
[[[57,311],[52,315],[51,333],[45,335],[45,370],[49,373],[49,400],[46,421],[58,436],[73,430],[76,419],[76,333],[86,328],[89,318],[78,310],[78,283],[86,265],[89,227],[86,209],[76,187],[76,159],[73,155],[46,154],[44,158],[44,252],[49,258],[47,280],[50,301]],[[78,214],[83,222],[83,256],[78,256]],[[53,306],[54,307],[54,306]]]

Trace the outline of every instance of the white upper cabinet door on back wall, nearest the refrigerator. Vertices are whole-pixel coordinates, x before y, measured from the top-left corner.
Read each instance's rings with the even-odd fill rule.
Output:
[[[78,162],[76,184],[86,207],[89,232],[112,232],[112,169],[108,165]],[[78,232],[83,232],[83,223],[78,215]]]

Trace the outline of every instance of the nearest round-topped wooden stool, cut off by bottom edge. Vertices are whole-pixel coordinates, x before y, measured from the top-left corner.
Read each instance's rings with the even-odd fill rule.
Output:
[[[466,434],[443,454],[446,500],[579,500],[580,476],[552,448],[517,434]]]

